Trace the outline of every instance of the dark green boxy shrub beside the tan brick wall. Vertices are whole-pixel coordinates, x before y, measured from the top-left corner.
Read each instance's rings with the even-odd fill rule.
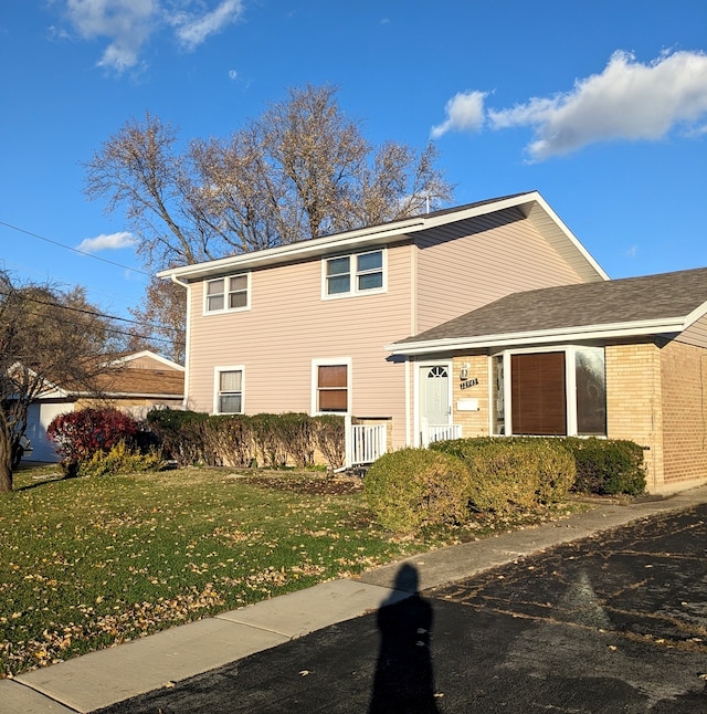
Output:
[[[645,491],[643,447],[619,439],[562,440],[577,464],[574,491],[598,495],[640,495]]]

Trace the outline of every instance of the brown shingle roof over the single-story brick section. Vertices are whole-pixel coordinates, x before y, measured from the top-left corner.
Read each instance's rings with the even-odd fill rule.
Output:
[[[707,302],[707,267],[514,293],[397,345],[679,318]]]

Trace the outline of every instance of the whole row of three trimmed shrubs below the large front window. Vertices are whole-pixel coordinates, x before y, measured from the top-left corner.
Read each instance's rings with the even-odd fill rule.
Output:
[[[643,449],[606,439],[483,438],[381,456],[363,479],[381,525],[410,533],[464,523],[472,511],[507,515],[561,503],[571,491],[637,495]]]

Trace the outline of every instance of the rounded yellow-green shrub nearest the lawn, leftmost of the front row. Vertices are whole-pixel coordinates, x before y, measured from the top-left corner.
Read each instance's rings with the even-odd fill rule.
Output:
[[[468,486],[460,459],[426,449],[383,454],[363,477],[369,508],[381,525],[399,533],[465,522]]]

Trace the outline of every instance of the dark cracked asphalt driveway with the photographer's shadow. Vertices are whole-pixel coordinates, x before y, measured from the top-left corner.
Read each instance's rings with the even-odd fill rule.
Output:
[[[101,712],[707,713],[706,556],[659,514]]]

